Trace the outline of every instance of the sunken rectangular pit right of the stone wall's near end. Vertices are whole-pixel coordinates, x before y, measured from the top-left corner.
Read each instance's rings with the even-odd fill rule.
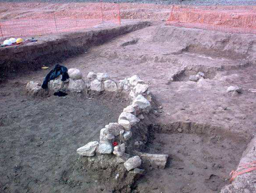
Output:
[[[164,170],[148,168],[136,183],[138,192],[219,192],[228,185],[250,137],[194,122],[152,125],[150,153],[169,155]]]

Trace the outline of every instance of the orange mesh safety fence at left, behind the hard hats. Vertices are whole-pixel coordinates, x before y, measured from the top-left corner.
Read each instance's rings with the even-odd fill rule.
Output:
[[[45,13],[0,21],[0,36],[9,38],[76,31],[106,22],[121,24],[119,4],[94,3],[91,7],[71,10],[69,13]]]

